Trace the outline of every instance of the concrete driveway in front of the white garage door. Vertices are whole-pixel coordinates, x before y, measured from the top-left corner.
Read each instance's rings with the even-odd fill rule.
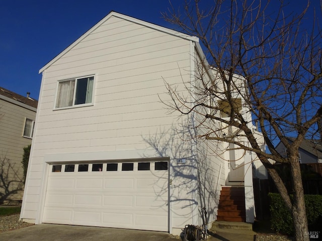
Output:
[[[176,241],[169,233],[107,227],[39,224],[0,233],[0,240],[15,241]]]

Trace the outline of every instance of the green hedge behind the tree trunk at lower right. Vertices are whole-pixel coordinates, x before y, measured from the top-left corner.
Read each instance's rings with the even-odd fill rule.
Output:
[[[274,231],[283,234],[292,234],[294,232],[293,218],[287,210],[280,194],[269,193],[271,228]],[[291,201],[293,196],[291,195]],[[308,225],[316,225],[322,218],[322,196],[321,195],[304,195],[306,218]]]

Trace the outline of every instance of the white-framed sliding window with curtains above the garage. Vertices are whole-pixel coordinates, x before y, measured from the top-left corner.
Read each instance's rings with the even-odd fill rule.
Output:
[[[94,76],[59,81],[56,108],[92,103],[93,84]]]

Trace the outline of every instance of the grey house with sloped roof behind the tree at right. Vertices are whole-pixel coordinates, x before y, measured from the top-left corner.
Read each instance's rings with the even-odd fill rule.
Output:
[[[292,143],[295,138],[287,138]],[[276,146],[276,150],[282,157],[287,157],[287,148],[280,142]],[[304,139],[298,149],[298,161],[301,164],[322,163],[322,142],[321,140]]]

